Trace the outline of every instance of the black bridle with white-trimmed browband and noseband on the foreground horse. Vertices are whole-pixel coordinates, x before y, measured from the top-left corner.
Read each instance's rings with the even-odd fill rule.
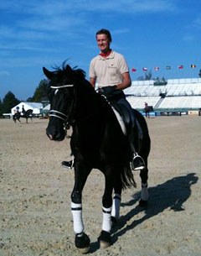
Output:
[[[56,89],[59,90],[61,88],[66,88],[66,87],[74,87],[73,84],[70,84],[70,85],[62,85],[62,86],[50,86],[50,88],[52,89]],[[56,93],[55,91],[55,93]],[[74,91],[75,93],[75,91]],[[64,114],[63,112],[59,112],[57,110],[50,110],[49,111],[49,117],[54,117],[54,118],[59,118],[61,119],[63,122],[64,122],[64,128],[69,128],[70,127],[70,124],[72,123],[73,121],[73,109],[74,109],[74,105],[75,105],[75,98],[74,100],[71,102],[71,105],[70,105],[70,111],[69,111],[69,114],[66,115]]]

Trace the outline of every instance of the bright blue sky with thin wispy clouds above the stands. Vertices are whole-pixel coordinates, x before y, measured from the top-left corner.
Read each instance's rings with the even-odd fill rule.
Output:
[[[143,67],[153,77],[198,77],[200,0],[7,0],[0,3],[0,98],[8,91],[19,100],[32,97],[44,79],[42,67],[67,59],[89,78],[99,52],[95,32],[102,28],[111,30],[111,48],[137,69],[132,80],[144,76]]]

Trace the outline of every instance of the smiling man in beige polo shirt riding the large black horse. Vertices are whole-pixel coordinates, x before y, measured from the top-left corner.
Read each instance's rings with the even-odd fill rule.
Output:
[[[109,30],[99,30],[95,34],[95,39],[101,52],[90,61],[90,83],[94,87],[97,84],[99,92],[104,94],[109,102],[114,102],[120,109],[126,107],[133,127],[135,120],[131,105],[126,101],[122,91],[131,86],[131,77],[126,60],[123,55],[111,50],[112,39]],[[134,148],[132,133],[129,134],[128,138],[133,152],[132,169],[142,170],[145,167],[144,160]],[[64,161],[62,165],[72,168],[73,161]]]

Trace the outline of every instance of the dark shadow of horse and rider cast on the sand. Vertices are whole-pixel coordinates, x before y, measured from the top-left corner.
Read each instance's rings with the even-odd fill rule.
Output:
[[[121,203],[121,207],[135,206],[126,215],[121,216],[118,223],[111,230],[112,243],[116,243],[119,237],[124,235],[137,225],[145,222],[147,219],[157,216],[160,212],[168,209],[174,212],[185,211],[183,203],[191,196],[191,185],[198,182],[198,177],[195,173],[190,173],[184,176],[178,176],[163,184],[149,188],[149,203],[147,209],[142,209],[137,202],[140,199],[140,192],[132,196],[131,201]],[[145,211],[145,215],[141,219],[135,219],[135,216]],[[131,222],[133,218],[133,221]],[[130,222],[128,225],[127,222]],[[99,243],[91,243],[90,253],[95,252],[99,248]]]

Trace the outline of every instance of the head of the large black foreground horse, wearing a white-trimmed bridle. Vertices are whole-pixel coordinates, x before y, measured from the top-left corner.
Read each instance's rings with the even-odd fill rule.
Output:
[[[75,71],[70,65],[48,71],[43,68],[49,79],[49,125],[46,133],[52,140],[63,140],[64,127],[71,124],[75,107]]]

